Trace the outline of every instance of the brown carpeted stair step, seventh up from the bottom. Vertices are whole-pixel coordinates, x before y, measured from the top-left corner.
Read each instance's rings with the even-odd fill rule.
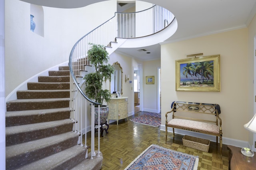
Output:
[[[67,98],[70,90],[20,90],[17,91],[18,99],[47,99],[47,98]]]

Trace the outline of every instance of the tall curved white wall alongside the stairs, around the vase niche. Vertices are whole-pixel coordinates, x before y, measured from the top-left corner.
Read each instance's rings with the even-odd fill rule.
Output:
[[[74,9],[42,8],[43,37],[30,31],[29,3],[5,1],[5,97],[30,77],[68,61],[82,36],[114,16],[116,0]]]

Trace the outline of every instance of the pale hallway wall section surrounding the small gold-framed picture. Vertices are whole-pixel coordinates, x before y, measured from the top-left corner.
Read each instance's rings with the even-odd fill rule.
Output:
[[[157,69],[161,67],[161,60],[143,62],[143,109],[157,113]],[[146,84],[146,76],[154,76],[154,84]]]

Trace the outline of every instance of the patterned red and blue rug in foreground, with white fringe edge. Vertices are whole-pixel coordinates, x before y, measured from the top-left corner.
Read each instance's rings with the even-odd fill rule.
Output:
[[[125,170],[197,170],[198,156],[152,144]]]

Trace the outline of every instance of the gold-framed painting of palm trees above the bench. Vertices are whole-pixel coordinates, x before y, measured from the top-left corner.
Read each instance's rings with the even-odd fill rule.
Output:
[[[176,91],[220,91],[220,55],[176,60]]]

